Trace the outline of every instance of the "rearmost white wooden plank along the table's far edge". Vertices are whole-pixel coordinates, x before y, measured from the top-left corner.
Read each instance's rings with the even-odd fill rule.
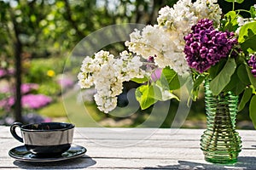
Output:
[[[0,138],[12,138],[9,127],[0,129]],[[168,129],[168,128],[105,128],[105,127],[76,127],[74,139],[134,139],[134,140],[171,140],[201,139],[204,129]],[[243,140],[256,140],[253,130],[238,131]]]

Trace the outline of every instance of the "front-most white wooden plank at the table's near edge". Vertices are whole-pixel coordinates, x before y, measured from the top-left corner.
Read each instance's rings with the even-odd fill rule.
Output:
[[[23,162],[3,160],[0,168],[24,168],[24,169],[70,169],[70,168],[90,168],[90,169],[253,169],[256,167],[255,158],[240,157],[236,165],[212,165],[204,160],[181,159],[104,159],[81,157],[70,161],[61,162]]]

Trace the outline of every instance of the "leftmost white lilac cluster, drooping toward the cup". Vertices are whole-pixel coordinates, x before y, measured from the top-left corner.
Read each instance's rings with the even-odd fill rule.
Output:
[[[117,105],[117,95],[122,93],[123,82],[132,78],[142,78],[146,75],[140,67],[143,62],[138,56],[132,56],[127,51],[114,58],[113,54],[99,51],[94,57],[85,57],[79,72],[80,88],[95,86],[94,99],[98,109],[108,113]]]

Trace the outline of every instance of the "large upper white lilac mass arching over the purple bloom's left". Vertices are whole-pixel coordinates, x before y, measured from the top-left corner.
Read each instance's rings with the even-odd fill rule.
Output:
[[[130,35],[130,42],[125,42],[125,45],[144,59],[156,55],[154,61],[160,68],[170,66],[179,75],[183,75],[189,71],[183,54],[183,37],[198,20],[208,18],[218,24],[220,17],[221,8],[217,0],[197,0],[195,3],[180,0],[173,8],[161,8],[158,25],[146,26],[143,31],[135,30]]]

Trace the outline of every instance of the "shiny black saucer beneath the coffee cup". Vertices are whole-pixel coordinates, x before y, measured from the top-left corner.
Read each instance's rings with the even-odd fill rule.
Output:
[[[25,145],[9,150],[9,156],[19,161],[63,161],[84,156],[86,149],[83,146],[72,144],[70,149],[60,156],[39,157],[26,150]]]

